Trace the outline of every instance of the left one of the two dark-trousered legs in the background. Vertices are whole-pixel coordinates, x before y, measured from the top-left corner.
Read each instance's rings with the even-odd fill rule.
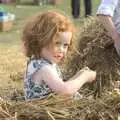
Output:
[[[72,15],[74,18],[78,18],[80,14],[80,1],[71,0]]]

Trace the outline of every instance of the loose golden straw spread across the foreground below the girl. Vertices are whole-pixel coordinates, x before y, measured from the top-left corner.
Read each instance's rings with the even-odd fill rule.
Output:
[[[0,99],[0,120],[118,120],[120,95],[107,94],[101,99],[51,94],[30,101]]]

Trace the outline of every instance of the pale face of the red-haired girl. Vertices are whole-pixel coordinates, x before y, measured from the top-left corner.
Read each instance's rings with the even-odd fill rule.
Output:
[[[52,63],[59,63],[67,53],[71,39],[71,32],[60,32],[50,45],[42,49],[42,57],[48,59]]]

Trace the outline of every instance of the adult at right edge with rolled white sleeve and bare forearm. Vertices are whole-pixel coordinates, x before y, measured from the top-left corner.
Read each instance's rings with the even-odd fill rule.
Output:
[[[120,0],[102,0],[97,15],[120,55]]]

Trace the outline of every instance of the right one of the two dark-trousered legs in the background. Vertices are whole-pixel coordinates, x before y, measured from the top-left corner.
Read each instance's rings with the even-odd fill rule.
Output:
[[[85,17],[91,15],[91,13],[92,13],[91,0],[84,0],[84,7],[85,7]]]

